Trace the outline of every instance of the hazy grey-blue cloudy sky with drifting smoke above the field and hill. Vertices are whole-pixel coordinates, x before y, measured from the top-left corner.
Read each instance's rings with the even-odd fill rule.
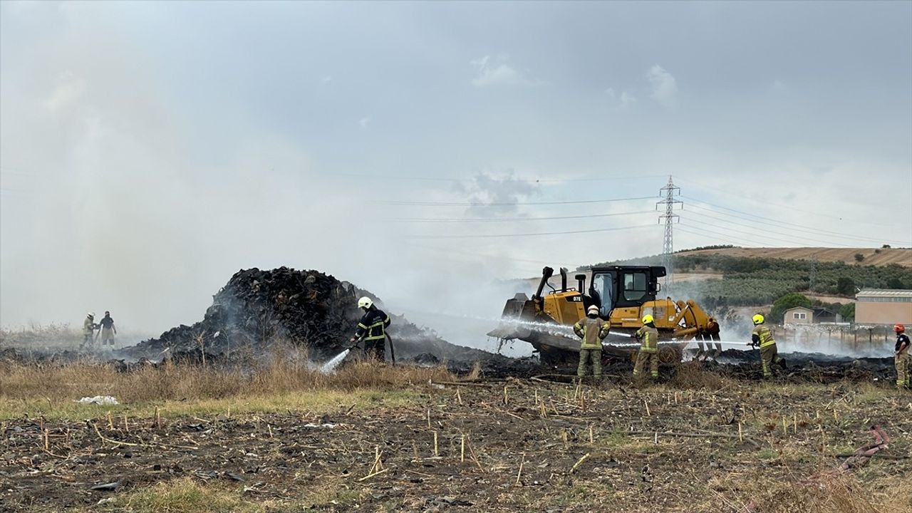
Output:
[[[496,317],[661,253],[669,175],[675,249],[912,246],[912,3],[0,3],[3,326],[280,266]]]

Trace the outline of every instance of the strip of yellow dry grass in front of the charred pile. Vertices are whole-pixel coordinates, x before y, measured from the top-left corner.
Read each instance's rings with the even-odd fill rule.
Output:
[[[392,367],[351,363],[324,374],[304,360],[277,355],[260,366],[216,369],[166,362],[159,368],[117,372],[111,365],[70,363],[33,365],[0,362],[0,418],[43,414],[47,418],[85,418],[129,408],[150,414],[282,411],[337,404],[370,406],[401,402],[416,394],[412,385],[454,379],[444,368]],[[112,395],[123,405],[82,405],[80,397]]]

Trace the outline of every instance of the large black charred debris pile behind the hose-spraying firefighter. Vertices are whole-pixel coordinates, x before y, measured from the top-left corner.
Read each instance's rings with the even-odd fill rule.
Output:
[[[170,353],[172,358],[192,361],[202,361],[205,354],[216,361],[256,357],[276,344],[290,344],[306,349],[312,360],[322,361],[347,348],[362,315],[357,305],[361,296],[383,308],[377,296],[319,271],[243,269],[212,297],[201,321],[172,328],[121,353],[151,360]],[[432,330],[388,313],[393,319],[389,334],[399,360],[451,361],[461,367],[471,367],[473,361],[503,365],[510,360],[452,345]]]

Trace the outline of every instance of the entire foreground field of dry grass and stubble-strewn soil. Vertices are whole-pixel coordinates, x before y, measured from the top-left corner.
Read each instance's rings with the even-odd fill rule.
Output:
[[[0,367],[13,511],[912,508],[912,402],[886,384],[739,382],[697,365],[642,386],[370,364],[327,376],[287,359]],[[73,403],[96,394],[122,404]],[[832,473],[871,424],[889,449]]]

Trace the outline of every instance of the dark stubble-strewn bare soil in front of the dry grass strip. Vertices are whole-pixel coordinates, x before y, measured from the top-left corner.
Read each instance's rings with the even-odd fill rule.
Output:
[[[132,490],[187,476],[247,500],[321,511],[591,511],[605,510],[608,497],[613,510],[710,510],[750,501],[757,476],[801,486],[793,483],[838,464],[839,447],[868,443],[870,423],[895,435],[887,455],[907,455],[900,434],[912,430],[901,397],[872,402],[842,387],[780,397],[741,386],[678,392],[508,380],[412,392],[414,403],[395,409],[342,404],[327,414],[163,418],[161,426],[131,418],[129,432],[117,417],[112,426],[105,418],[5,421],[0,509],[116,510]],[[876,457],[865,472],[874,491],[877,479],[912,475],[912,460]],[[93,489],[109,483],[118,485]]]

